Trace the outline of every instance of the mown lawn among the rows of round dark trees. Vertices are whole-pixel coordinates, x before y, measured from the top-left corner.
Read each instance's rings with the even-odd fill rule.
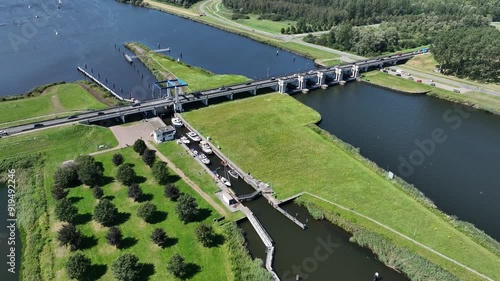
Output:
[[[137,208],[141,203],[129,199],[127,197],[128,188],[114,181],[118,168],[111,163],[111,158],[116,152],[123,154],[125,163],[134,165],[134,170],[141,179],[140,186],[145,194],[145,200],[158,207],[160,215],[158,215],[156,223],[148,224],[137,217]],[[90,188],[83,186],[72,188],[69,198],[76,202],[80,215],[79,220],[81,220],[77,227],[86,236],[84,239],[85,249],[82,252],[92,259],[93,264],[97,265],[98,275],[102,275],[99,280],[115,280],[112,276],[111,264],[122,253],[137,255],[140,262],[145,264],[146,274],[143,276],[149,275],[149,280],[177,280],[166,269],[167,261],[174,253],[183,255],[186,262],[193,263],[191,268],[196,270],[189,280],[219,281],[231,279],[228,275],[230,268],[224,247],[220,245],[214,248],[204,248],[197,242],[195,228],[200,222],[184,224],[178,219],[175,214],[177,203],[164,197],[163,186],[156,183],[152,178],[151,169],[143,163],[140,156],[132,148],[100,154],[96,156],[96,160],[102,162],[105,169],[104,174],[107,182],[102,186],[104,194],[111,199],[121,213],[120,217],[123,222],[118,227],[125,239],[125,249],[116,249],[108,245],[105,238],[108,228],[92,220],[92,213],[98,201],[92,197]],[[200,221],[212,224],[213,219],[218,217],[218,214],[177,176],[174,175],[172,179],[182,192],[196,198],[202,214]],[[51,201],[49,201],[49,213],[53,214],[54,202]],[[53,218],[53,216],[51,217]],[[52,219],[51,231],[54,239],[51,244],[56,257],[54,269],[56,280],[68,280],[64,265],[72,253],[67,248],[57,245],[56,229],[60,225],[60,222]],[[163,228],[167,235],[172,238],[173,242],[170,246],[161,249],[151,241],[150,235],[156,227]],[[146,280],[146,277],[141,280]]]

